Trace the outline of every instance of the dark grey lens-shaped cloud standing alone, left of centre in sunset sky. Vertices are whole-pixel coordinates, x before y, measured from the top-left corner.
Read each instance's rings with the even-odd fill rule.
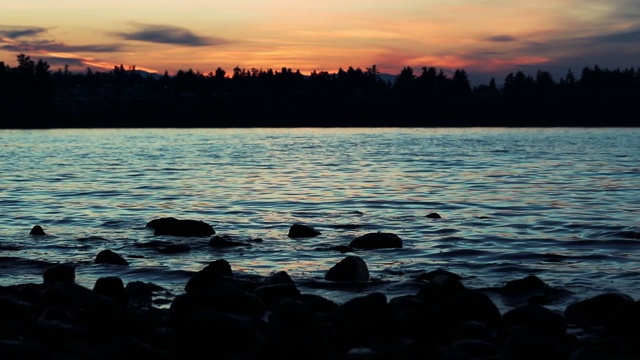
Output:
[[[146,41],[184,46],[223,45],[228,40],[196,35],[189,29],[172,25],[133,24],[135,30],[117,35],[126,40]]]

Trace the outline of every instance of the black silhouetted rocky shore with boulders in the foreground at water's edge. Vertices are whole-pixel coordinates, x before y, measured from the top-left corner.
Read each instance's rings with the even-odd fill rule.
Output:
[[[365,238],[367,245],[359,245],[366,239],[355,245],[401,246],[392,234]],[[127,266],[111,251],[95,261]],[[547,305],[563,290],[527,276],[493,289],[521,300],[501,312],[486,291],[466,287],[445,270],[420,274],[415,294],[388,298],[374,291],[341,304],[302,293],[284,271],[237,275],[226,260],[212,261],[189,279],[183,294],[157,306],[163,289],[154,284],[107,276],[90,289],[75,283],[73,264],[51,266],[41,283],[0,286],[0,358],[640,358],[640,304],[621,293],[557,311]],[[345,256],[325,279],[371,281],[367,264],[355,255]]]

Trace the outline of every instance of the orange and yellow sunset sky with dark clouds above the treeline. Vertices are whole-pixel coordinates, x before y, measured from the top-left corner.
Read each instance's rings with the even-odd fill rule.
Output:
[[[170,74],[405,66],[509,72],[640,67],[640,0],[2,0],[0,61]]]

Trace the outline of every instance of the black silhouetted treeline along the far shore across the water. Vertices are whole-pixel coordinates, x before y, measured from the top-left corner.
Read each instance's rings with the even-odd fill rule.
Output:
[[[560,79],[509,73],[472,87],[465,70],[376,66],[303,75],[218,68],[170,76],[116,66],[52,71],[20,54],[0,62],[0,128],[640,126],[640,69],[585,67]]]

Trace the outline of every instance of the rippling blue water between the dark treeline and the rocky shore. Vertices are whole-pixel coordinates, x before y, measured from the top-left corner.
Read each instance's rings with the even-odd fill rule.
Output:
[[[0,130],[0,159],[0,285],[72,262],[87,287],[115,275],[170,298],[226,259],[240,276],[285,270],[336,301],[415,293],[437,268],[471,288],[537,275],[572,292],[559,308],[605,291],[640,298],[640,129]],[[165,216],[252,246],[154,236],[146,223]],[[293,223],[322,235],[289,239]],[[50,236],[29,236],[33,225]],[[377,231],[403,248],[330,249]],[[139,246],[152,240],[191,250]],[[130,266],[94,264],[103,249]],[[324,286],[347,255],[375,285]]]

